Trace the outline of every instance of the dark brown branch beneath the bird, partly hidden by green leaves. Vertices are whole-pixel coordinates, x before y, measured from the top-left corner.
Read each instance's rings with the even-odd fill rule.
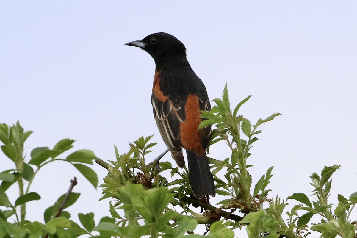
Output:
[[[97,164],[99,164],[100,166],[108,169],[109,164],[106,163],[105,161],[101,160],[100,158],[97,158],[95,160],[95,162]],[[177,193],[176,192],[174,192],[174,193],[175,193],[175,198],[180,199],[180,198],[177,197]],[[201,200],[199,200],[197,198],[190,198],[190,197],[185,196],[185,197],[181,198],[181,200],[184,201],[184,202],[191,203],[193,206],[196,206],[196,207],[202,207],[202,208],[205,208],[205,209],[209,209],[209,210],[217,213],[221,217],[225,217],[226,219],[231,219],[231,220],[237,221],[237,222],[241,221],[243,219],[243,217],[237,216],[235,214],[232,214],[232,213],[229,213],[229,212],[226,212],[226,211],[222,211],[221,209],[218,209],[218,208],[212,206],[209,203],[202,202]]]

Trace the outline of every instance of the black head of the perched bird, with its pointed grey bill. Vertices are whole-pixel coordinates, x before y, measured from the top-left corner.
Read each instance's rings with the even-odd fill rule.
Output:
[[[183,57],[186,59],[186,48],[175,36],[159,32],[146,36],[142,40],[132,41],[125,45],[139,47],[148,52],[155,62],[168,58]]]

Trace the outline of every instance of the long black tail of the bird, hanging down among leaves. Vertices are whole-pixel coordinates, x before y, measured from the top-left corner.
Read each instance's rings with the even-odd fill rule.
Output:
[[[207,194],[216,196],[215,182],[208,166],[206,155],[197,155],[191,150],[186,150],[188,161],[188,183],[193,194],[202,198]]]

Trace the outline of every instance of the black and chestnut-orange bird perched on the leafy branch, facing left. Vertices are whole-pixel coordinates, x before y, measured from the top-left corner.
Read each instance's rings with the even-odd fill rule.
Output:
[[[156,125],[177,165],[185,167],[182,148],[188,161],[188,183],[197,198],[214,197],[215,183],[208,165],[206,149],[212,125],[197,130],[199,110],[210,111],[206,87],[192,70],[186,47],[175,36],[158,32],[125,45],[146,51],[155,61],[151,104]]]

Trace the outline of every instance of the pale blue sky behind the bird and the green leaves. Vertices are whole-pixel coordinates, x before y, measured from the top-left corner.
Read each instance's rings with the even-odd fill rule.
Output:
[[[113,159],[113,144],[123,153],[128,141],[152,134],[161,153],[150,103],[154,61],[123,44],[167,32],[185,44],[211,100],[227,82],[232,105],[254,95],[241,109],[251,122],[283,114],[261,127],[249,161],[253,182],[275,166],[271,197],[310,193],[313,172],[340,164],[332,185],[336,204],[337,193],[357,191],[350,185],[357,155],[356,26],[356,1],[2,1],[0,122],[20,120],[35,132],[27,155],[72,138],[75,149]],[[211,152],[228,156],[224,144]],[[2,170],[10,168],[9,159],[0,159]],[[108,214],[107,201],[96,202],[101,189],[57,163],[39,173],[32,191],[42,200],[32,202],[38,207],[28,218],[42,221],[73,176],[82,195],[72,216]]]

